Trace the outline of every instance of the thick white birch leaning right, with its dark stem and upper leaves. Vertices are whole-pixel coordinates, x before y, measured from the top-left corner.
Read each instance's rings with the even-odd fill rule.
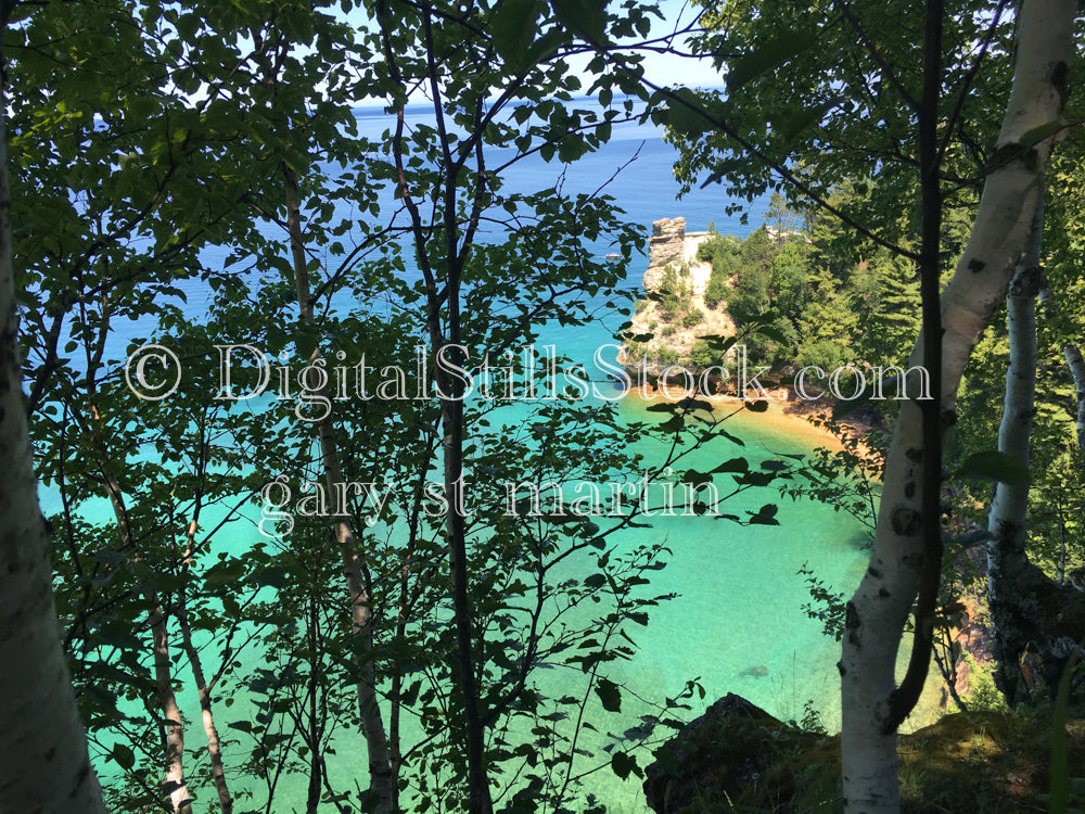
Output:
[[[909,366],[927,366],[933,398],[914,400],[920,382],[909,383],[912,400],[902,404],[885,460],[870,564],[847,603],[840,672],[848,811],[899,807],[895,733],[927,674],[941,577],[942,437],[969,354],[1006,295],[1054,133],[1064,126],[1074,4],[1025,0],[1014,20],[1009,101],[993,147],[984,144],[998,105],[981,100],[998,98],[1006,73],[999,67],[1007,61],[999,26],[1006,7],[928,2],[922,14],[889,23],[879,10],[843,2],[808,10],[724,3],[711,12],[701,50],[727,67],[727,99],[666,93],[665,118],[684,148],[680,169],[689,182],[710,171],[732,193],[782,186],[910,258],[920,272],[924,328]],[[917,42],[920,61],[906,56]],[[869,175],[880,204],[833,205],[829,193],[842,174]],[[968,244],[940,302],[946,191],[980,182]],[[918,251],[892,224],[902,200],[917,201]],[[897,687],[896,654],[917,595],[912,659]]]

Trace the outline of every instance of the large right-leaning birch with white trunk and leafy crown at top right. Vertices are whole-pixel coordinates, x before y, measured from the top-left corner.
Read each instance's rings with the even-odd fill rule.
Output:
[[[783,37],[780,30],[789,23],[787,13],[777,20],[767,14],[766,4],[761,4],[760,12],[756,17],[737,17],[736,29],[763,25]],[[801,176],[786,166],[786,160],[816,143],[815,138],[830,144],[839,138],[853,150],[861,144],[864,161],[896,156],[899,161],[885,162],[886,167],[879,173],[882,182],[876,189],[880,194],[898,191],[897,185],[918,170],[912,182],[921,195],[917,218],[920,250],[912,253],[899,245],[895,250],[911,257],[920,268],[923,332],[909,364],[926,365],[932,372],[933,399],[922,407],[912,400],[904,403],[895,423],[871,562],[847,607],[840,665],[844,687],[842,746],[846,805],[850,811],[895,811],[899,806],[895,730],[918,698],[926,676],[941,575],[940,448],[944,417],[954,414],[965,363],[980,331],[1004,298],[1024,245],[1038,179],[1043,177],[1051,148],[1051,132],[1060,126],[1065,103],[1074,8],[1069,2],[1033,0],[1025,2],[1018,15],[1013,86],[1001,131],[990,153],[995,160],[982,171],[984,193],[968,245],[941,306],[937,288],[942,183],[943,179],[960,178],[954,171],[955,165],[960,166],[962,157],[967,164],[968,155],[967,150],[957,154],[948,148],[954,137],[959,137],[958,143],[962,145],[970,143],[971,131],[965,124],[970,120],[966,99],[972,96],[969,91],[974,87],[973,80],[983,81],[979,67],[997,31],[998,14],[995,14],[996,25],[988,25],[971,10],[954,9],[952,15],[946,15],[941,3],[928,3],[922,36],[915,36],[917,31],[903,36],[890,33],[884,41],[876,41],[871,33],[882,30],[872,25],[877,13],[859,20],[855,10],[843,4],[839,13],[826,21],[820,31],[810,30],[807,23],[801,37],[784,40],[787,44],[773,56],[766,52],[771,42],[766,36],[741,58],[733,59],[735,47],[728,42],[732,31],[725,28],[715,36],[713,44],[717,52],[733,59],[728,77],[730,98],[727,102],[704,103],[692,94],[674,94],[672,109],[677,111],[680,106],[681,111],[673,113],[671,124],[679,138],[698,133],[705,120],[718,128],[713,137],[715,143],[710,138],[702,145],[693,144],[687,153],[687,166],[712,166],[714,177],[749,193],[768,182],[764,173],[767,165],[790,185],[794,194],[809,195],[819,206],[835,211],[886,247],[894,247],[895,242],[895,227],[889,216],[892,206],[881,208],[880,217],[858,224],[852,214],[826,201],[824,190],[831,173],[847,166],[847,175],[857,175],[854,153],[830,150],[825,161],[814,160],[812,151],[801,153],[810,163]],[[945,62],[952,72],[947,77],[943,69],[946,47],[956,53],[950,43],[960,42],[961,33],[970,29],[974,35],[966,35],[963,41],[981,43],[978,55],[959,63]],[[854,63],[842,61],[837,72],[810,71],[808,61],[817,59],[810,44],[817,39],[817,53],[824,52],[825,35],[830,30],[833,36],[844,37],[837,41],[857,59]],[[856,35],[858,42],[848,44],[846,38]],[[901,59],[899,49],[909,38],[924,43],[919,71],[909,68]],[[769,85],[758,80],[774,72],[777,75]],[[782,82],[781,75],[793,84]],[[886,93],[868,92],[871,76],[877,77],[876,84]],[[953,89],[950,96],[943,94],[944,87]],[[781,99],[781,92],[791,96]],[[743,104],[755,93],[762,94],[755,104]],[[988,97],[981,93],[978,98],[984,100],[978,103],[982,120],[993,106],[983,110]],[[780,111],[774,114],[770,129],[754,124],[767,106],[766,99],[777,102],[769,110]],[[789,112],[800,103],[810,113],[799,114],[796,118]],[[949,107],[948,118],[940,114],[944,105]],[[861,116],[846,115],[857,110],[871,116],[877,111],[875,120],[884,120],[886,126],[864,130]],[[918,116],[915,130],[914,116]],[[914,157],[899,155],[895,147],[886,143],[886,139],[895,141],[901,137],[910,137]],[[720,144],[733,153],[752,153],[761,160],[761,165],[749,169],[727,160],[717,161],[715,150]],[[948,163],[943,162],[944,157]],[[918,382],[911,383],[914,397],[919,393],[917,385]],[[917,594],[912,664],[897,688],[893,675],[897,645]]]

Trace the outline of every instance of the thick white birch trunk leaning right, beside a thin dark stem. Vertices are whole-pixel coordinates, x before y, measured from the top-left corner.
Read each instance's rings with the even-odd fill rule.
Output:
[[[968,246],[942,295],[942,369],[930,372],[941,376],[945,419],[952,420],[969,355],[1006,296],[1027,237],[1052,139],[1032,147],[1020,142],[1061,115],[1074,11],[1073,0],[1025,0],[1018,15],[1012,92],[997,142],[1003,161],[986,178]],[[909,365],[921,364],[922,342],[920,336]],[[848,812],[899,811],[894,666],[924,561],[923,456],[919,405],[904,402],[885,461],[870,564],[847,605],[840,672]]]

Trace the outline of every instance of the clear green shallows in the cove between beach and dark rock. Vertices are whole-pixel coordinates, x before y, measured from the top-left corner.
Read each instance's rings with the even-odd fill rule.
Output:
[[[623,405],[630,418],[646,418],[644,405]],[[656,414],[658,415],[658,414]],[[722,460],[745,455],[751,467],[776,455],[808,453],[810,438],[797,437],[779,422],[742,411],[728,420],[728,431],[745,442],[720,442],[695,453],[684,466],[704,471]],[[725,482],[727,476],[722,479]],[[678,692],[699,678],[706,694],[694,697],[697,715],[727,692],[741,695],[782,718],[801,718],[812,700],[826,726],[840,725],[840,645],[821,634],[820,623],[802,610],[809,601],[796,571],[808,562],[820,578],[851,593],[861,576],[866,556],[863,526],[851,516],[812,501],[780,498],[773,486],[752,489],[720,504],[719,510],[744,517],[766,503],[779,506],[780,524],[740,526],[700,517],[660,517],[640,534],[664,539],[673,556],[653,577],[655,593],[680,596],[662,603],[637,637],[639,651],[618,663],[610,676],[646,697]],[[600,721],[607,714],[597,705]],[[644,759],[640,759],[641,764]],[[601,772],[592,783],[617,811],[647,811],[640,780],[622,783]]]

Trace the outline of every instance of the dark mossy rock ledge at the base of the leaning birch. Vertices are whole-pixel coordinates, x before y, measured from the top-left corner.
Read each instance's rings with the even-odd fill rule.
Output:
[[[901,736],[902,811],[1046,812],[1060,763],[1067,810],[1085,810],[1085,720],[1073,709],[1069,721],[1056,720],[1050,709],[980,710]],[[1059,755],[1056,726],[1065,730]],[[843,810],[840,737],[784,724],[740,696],[716,701],[655,756],[644,796],[656,814]]]

